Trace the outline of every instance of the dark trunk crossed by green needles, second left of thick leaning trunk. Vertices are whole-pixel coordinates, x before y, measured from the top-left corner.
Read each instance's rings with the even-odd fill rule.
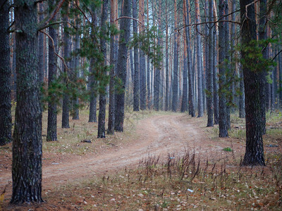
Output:
[[[101,18],[101,52],[104,56],[104,67],[106,67],[106,18],[108,13],[108,2],[109,0],[103,0],[102,6],[102,18]],[[106,72],[103,72],[103,75],[106,76]],[[102,91],[99,93],[99,117],[98,117],[98,138],[106,137],[105,130],[105,121],[106,121],[106,86],[102,88]]]

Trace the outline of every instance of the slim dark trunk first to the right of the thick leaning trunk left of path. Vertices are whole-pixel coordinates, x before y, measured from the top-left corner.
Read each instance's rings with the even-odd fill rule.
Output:
[[[133,18],[137,19],[137,4],[136,0],[133,0]],[[137,34],[137,21],[133,20],[133,34]],[[133,86],[133,110],[139,110],[139,56],[138,47],[134,47],[134,86]]]

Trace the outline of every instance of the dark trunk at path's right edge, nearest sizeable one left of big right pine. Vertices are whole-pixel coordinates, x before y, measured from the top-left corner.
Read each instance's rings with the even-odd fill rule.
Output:
[[[225,0],[219,0],[219,19],[223,19],[225,14]],[[224,93],[226,84],[225,63],[226,59],[226,37],[224,35],[226,23],[219,23],[219,137],[228,137],[226,96]]]

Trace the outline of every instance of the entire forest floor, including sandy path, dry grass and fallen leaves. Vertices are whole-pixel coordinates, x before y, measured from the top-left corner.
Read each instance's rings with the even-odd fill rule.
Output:
[[[46,122],[44,114],[43,128]],[[97,122],[88,123],[82,110],[70,129],[58,129],[59,141],[45,141],[43,129],[44,203],[8,204],[11,143],[0,147],[0,194],[6,190],[0,210],[280,210],[281,114],[267,122],[266,167],[240,167],[244,120],[234,115],[224,139],[206,122],[188,114],[128,112],[125,132],[97,139]]]

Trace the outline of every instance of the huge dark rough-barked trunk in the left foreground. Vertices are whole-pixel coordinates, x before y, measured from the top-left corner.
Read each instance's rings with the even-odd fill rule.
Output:
[[[42,109],[37,56],[37,5],[15,1],[17,106],[11,203],[42,202]]]

